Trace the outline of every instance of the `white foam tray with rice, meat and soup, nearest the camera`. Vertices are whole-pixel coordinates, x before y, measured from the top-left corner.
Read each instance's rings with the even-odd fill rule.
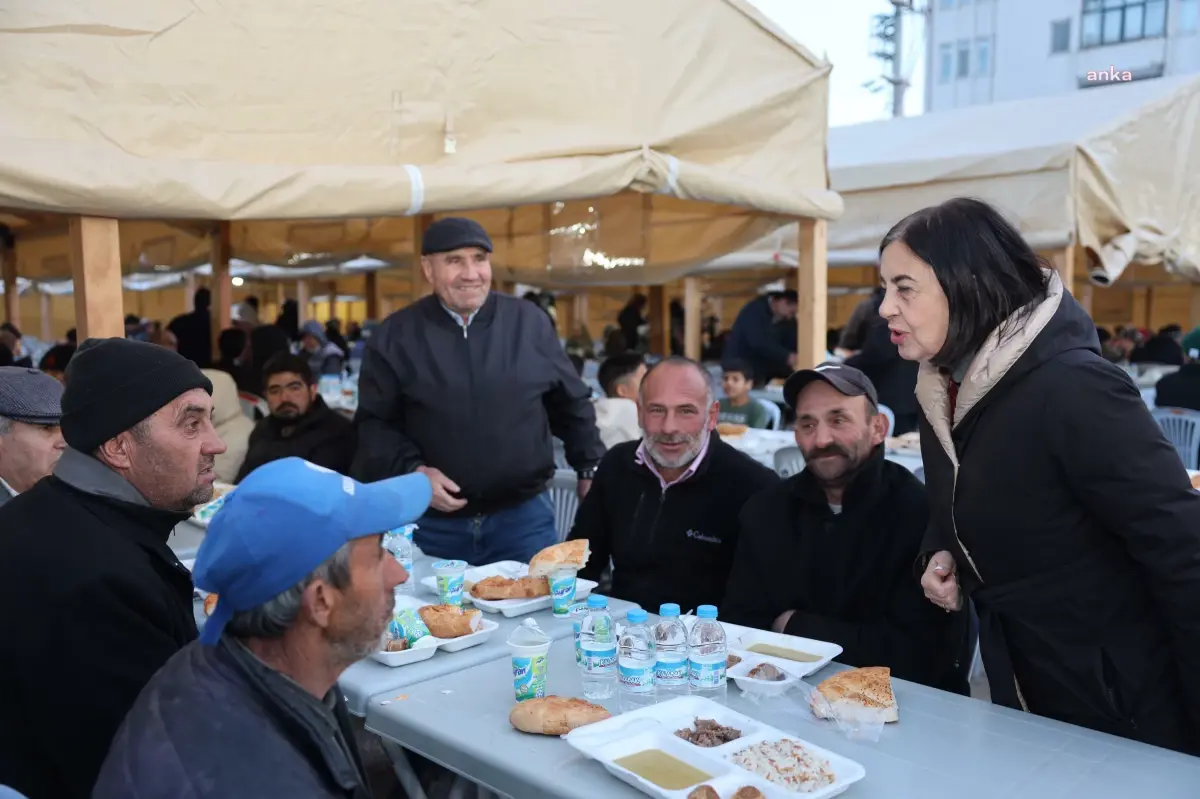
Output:
[[[718,723],[740,729],[742,737],[712,749],[696,746],[676,737],[677,729],[692,726],[696,719],[714,719]],[[781,738],[794,740],[812,755],[827,759],[834,773],[833,785],[811,793],[794,793],[734,765],[731,759],[733,755],[746,746]],[[850,786],[866,776],[866,770],[850,758],[810,744],[799,735],[792,735],[776,727],[755,721],[730,710],[724,704],[696,696],[679,697],[661,704],[623,713],[619,716],[574,729],[565,735],[565,739],[576,750],[598,761],[622,782],[634,786],[647,795],[660,797],[660,799],[686,799],[688,794],[698,785],[712,786],[721,799],[732,797],[743,786],[758,788],[768,799],[794,799],[796,797],[828,799],[845,792]],[[666,791],[614,762],[648,749],[664,751],[708,774],[709,779],[680,791]]]

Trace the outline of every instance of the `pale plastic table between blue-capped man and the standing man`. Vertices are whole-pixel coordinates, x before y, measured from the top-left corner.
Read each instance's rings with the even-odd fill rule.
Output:
[[[420,593],[418,595],[420,596]],[[430,596],[426,595],[425,599],[430,599]],[[635,607],[637,605],[634,602],[608,599],[608,608],[613,612],[613,615],[624,618],[625,613]],[[394,698],[392,695],[401,689],[407,690],[418,683],[448,674],[456,674],[488,661],[500,660],[504,667],[509,668],[509,648],[506,641],[512,629],[518,626],[524,619],[538,621],[538,626],[552,641],[566,638],[574,653],[575,639],[570,619],[556,618],[550,609],[518,615],[512,619],[499,613],[485,613],[484,618],[497,621],[500,626],[487,641],[469,649],[463,649],[462,651],[438,651],[428,660],[409,663],[408,666],[384,666],[371,659],[361,660],[350,666],[342,673],[341,679],[337,680],[338,687],[342,689],[342,693],[346,696],[347,710],[355,716],[365,716],[367,702],[373,697],[380,699]],[[510,674],[510,690],[511,685],[512,677]]]

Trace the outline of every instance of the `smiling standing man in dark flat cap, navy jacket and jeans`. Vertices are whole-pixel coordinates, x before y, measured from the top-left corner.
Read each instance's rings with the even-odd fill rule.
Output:
[[[592,392],[550,318],[490,290],[491,254],[478,222],[430,226],[421,266],[433,294],[367,341],[355,416],[355,476],[426,474],[433,503],[418,546],[473,564],[528,561],[558,540],[546,491],[552,437],[565,444],[581,495],[605,453]]]

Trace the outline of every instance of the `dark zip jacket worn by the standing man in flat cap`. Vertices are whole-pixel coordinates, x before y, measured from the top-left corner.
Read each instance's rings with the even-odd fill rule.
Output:
[[[544,492],[554,474],[552,435],[577,470],[605,451],[592,391],[550,317],[494,292],[467,326],[434,295],[388,317],[366,346],[355,423],[358,479],[440,469],[467,499],[455,516]]]

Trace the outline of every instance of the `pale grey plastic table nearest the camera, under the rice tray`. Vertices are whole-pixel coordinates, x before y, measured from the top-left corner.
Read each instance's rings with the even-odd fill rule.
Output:
[[[816,683],[841,668],[832,665]],[[551,647],[548,691],[580,696],[574,642]],[[900,721],[878,743],[851,741],[786,701],[755,704],[730,685],[727,704],[866,768],[847,799],[1194,799],[1200,758],[1135,744],[912,683],[895,680]],[[506,660],[414,685],[401,701],[372,701],[366,727],[508,797],[620,799],[641,793],[558,738],[509,725]],[[616,709],[614,701],[601,703]]]

